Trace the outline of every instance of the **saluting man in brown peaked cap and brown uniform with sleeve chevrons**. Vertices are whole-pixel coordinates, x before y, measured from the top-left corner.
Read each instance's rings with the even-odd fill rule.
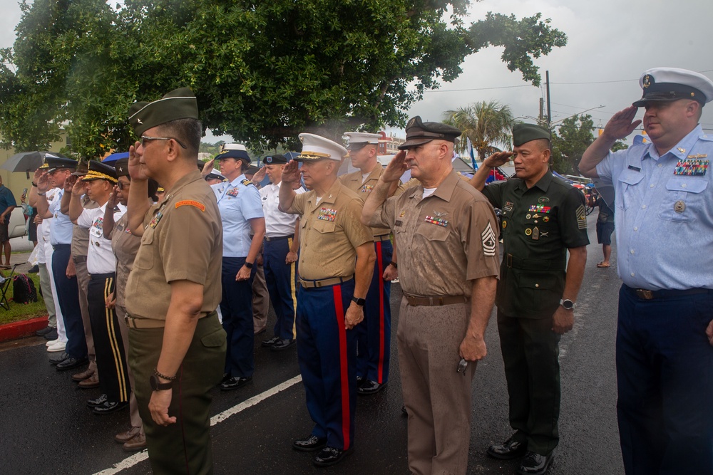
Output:
[[[493,207],[453,171],[461,131],[416,116],[379,177],[361,221],[389,227],[399,249],[404,298],[396,333],[412,474],[466,474],[471,382],[498,278]],[[404,151],[405,150],[405,151]],[[406,170],[418,186],[391,197]]]

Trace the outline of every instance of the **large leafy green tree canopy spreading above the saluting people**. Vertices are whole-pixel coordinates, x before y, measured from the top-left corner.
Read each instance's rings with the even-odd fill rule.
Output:
[[[479,1],[479,0],[476,0]],[[538,85],[533,58],[564,46],[540,14],[463,19],[468,0],[35,0],[0,52],[0,132],[28,150],[66,127],[73,152],[133,142],[126,115],[187,85],[203,125],[253,149],[309,131],[403,126],[424,90],[486,46]]]

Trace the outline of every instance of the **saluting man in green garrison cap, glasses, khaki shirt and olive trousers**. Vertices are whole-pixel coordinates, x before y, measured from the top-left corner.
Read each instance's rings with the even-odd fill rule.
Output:
[[[195,95],[135,103],[129,121],[128,228],[141,245],[126,284],[128,361],[155,474],[211,474],[210,390],[222,378],[222,228],[196,169],[202,127]],[[148,178],[165,187],[150,204]]]

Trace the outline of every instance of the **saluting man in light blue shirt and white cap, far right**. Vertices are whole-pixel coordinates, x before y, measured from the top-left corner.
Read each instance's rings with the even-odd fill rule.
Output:
[[[713,81],[654,68],[580,171],[613,184],[620,249],[617,414],[631,474],[713,473],[713,135],[698,121]],[[640,123],[651,143],[610,152]],[[678,245],[677,245],[678,244]]]

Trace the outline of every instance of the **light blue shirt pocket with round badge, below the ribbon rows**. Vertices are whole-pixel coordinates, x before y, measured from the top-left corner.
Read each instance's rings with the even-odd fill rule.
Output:
[[[669,179],[666,183],[666,194],[661,200],[659,217],[666,221],[695,221],[698,211],[704,208],[703,191],[707,187],[708,182],[704,179]]]

